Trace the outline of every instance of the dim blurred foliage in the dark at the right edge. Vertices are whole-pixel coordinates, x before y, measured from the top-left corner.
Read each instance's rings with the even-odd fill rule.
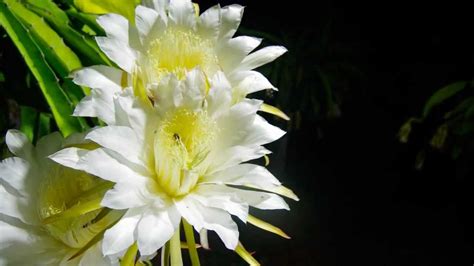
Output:
[[[458,81],[437,90],[423,107],[421,116],[409,118],[400,128],[399,140],[410,143],[421,135],[424,145],[416,157],[423,168],[430,151],[447,153],[453,160],[474,153],[474,81]]]

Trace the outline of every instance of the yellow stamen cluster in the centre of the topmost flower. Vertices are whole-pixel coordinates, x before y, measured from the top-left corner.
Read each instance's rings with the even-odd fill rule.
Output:
[[[208,75],[218,70],[211,42],[191,30],[168,28],[150,43],[147,55],[157,80],[167,74],[184,79],[186,72],[195,67]]]

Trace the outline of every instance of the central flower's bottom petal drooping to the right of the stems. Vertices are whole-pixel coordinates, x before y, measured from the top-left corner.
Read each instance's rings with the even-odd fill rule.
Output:
[[[234,250],[239,241],[237,224],[226,211],[208,208],[190,199],[176,202],[181,215],[192,224],[197,231],[205,228],[215,231],[228,249]]]

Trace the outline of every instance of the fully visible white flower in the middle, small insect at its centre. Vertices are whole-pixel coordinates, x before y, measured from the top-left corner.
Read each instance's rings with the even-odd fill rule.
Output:
[[[105,255],[135,241],[141,255],[152,254],[170,240],[181,218],[198,232],[215,231],[235,249],[239,232],[231,215],[246,222],[249,206],[289,209],[277,194],[297,200],[264,167],[244,163],[269,153],[262,145],[284,134],[257,115],[261,101],[232,104],[224,75],[206,78],[199,70],[163,77],[151,93],[156,97],[148,109],[131,89],[115,97],[116,123],[86,136],[101,148],[68,148],[51,156],[116,183],[102,205],[127,211],[106,231]]]

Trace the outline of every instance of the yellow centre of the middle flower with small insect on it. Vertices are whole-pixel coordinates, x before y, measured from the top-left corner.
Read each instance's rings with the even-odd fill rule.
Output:
[[[155,135],[158,185],[171,197],[191,191],[206,170],[202,162],[214,142],[217,126],[206,112],[180,109],[167,114]]]

